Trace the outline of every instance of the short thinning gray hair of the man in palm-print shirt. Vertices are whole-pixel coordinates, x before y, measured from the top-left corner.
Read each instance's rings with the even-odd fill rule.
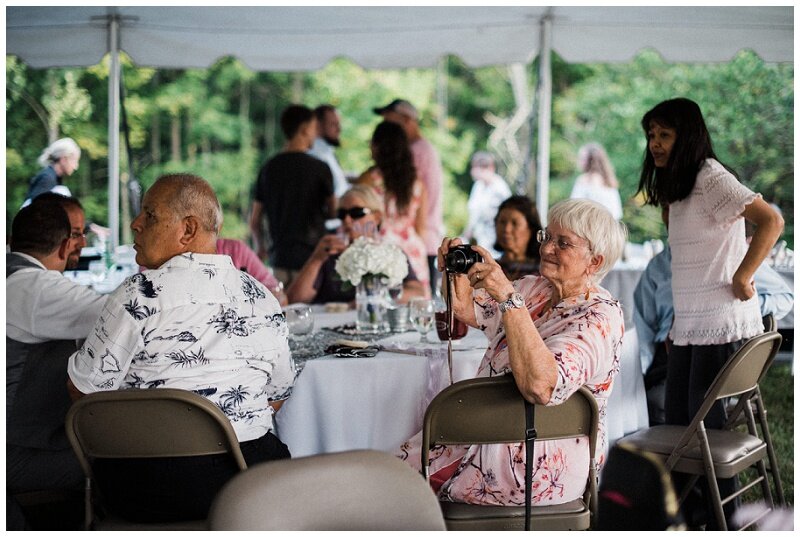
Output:
[[[197,175],[174,173],[162,175],[153,186],[156,184],[173,187],[169,206],[174,208],[176,217],[195,216],[203,229],[219,234],[222,207],[208,181]]]

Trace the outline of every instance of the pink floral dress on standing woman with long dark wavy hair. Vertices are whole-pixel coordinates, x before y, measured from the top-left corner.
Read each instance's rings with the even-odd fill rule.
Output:
[[[380,172],[372,173],[372,186],[383,197],[384,217],[381,224],[381,236],[384,240],[396,244],[408,257],[417,279],[425,289],[425,296],[430,298],[430,271],[428,270],[428,254],[425,242],[414,228],[417,212],[422,204],[422,183],[414,181],[411,201],[405,211],[400,213],[393,195],[386,193],[383,177]]]

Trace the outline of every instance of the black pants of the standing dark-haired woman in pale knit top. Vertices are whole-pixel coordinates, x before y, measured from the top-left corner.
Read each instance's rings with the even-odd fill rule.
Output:
[[[668,425],[688,425],[697,410],[703,404],[706,390],[714,378],[744,343],[743,340],[722,345],[672,345],[669,352],[667,365],[666,400],[664,414]],[[707,429],[722,429],[727,421],[724,401],[714,403],[705,419]],[[686,477],[675,476],[676,489],[680,491]],[[705,479],[700,479],[702,494],[706,498],[706,529],[715,529],[716,520],[711,507],[708,484]],[[737,479],[717,479],[717,486],[722,498],[733,494],[738,486]],[[731,526],[731,515],[736,509],[736,502],[725,505],[725,519]],[[691,502],[684,504],[684,517],[691,524],[693,513]]]

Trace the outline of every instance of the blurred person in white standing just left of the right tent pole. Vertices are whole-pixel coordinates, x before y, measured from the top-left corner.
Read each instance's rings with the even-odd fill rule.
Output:
[[[467,241],[474,240],[478,246],[489,250],[496,259],[500,257],[500,252],[494,249],[497,238],[494,220],[497,208],[511,196],[511,189],[505,179],[497,174],[494,155],[488,151],[478,151],[472,155],[470,175],[474,182],[467,202],[469,220],[463,236]]]

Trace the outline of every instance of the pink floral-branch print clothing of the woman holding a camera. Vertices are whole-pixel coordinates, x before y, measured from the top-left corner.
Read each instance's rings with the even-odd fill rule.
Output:
[[[553,289],[546,279],[526,276],[513,285],[525,297],[534,325],[558,363],[558,379],[548,404],[563,403],[581,386],[597,400],[600,425],[595,458],[601,466],[606,452],[606,406],[619,372],[624,332],[619,302],[605,289],[595,287],[588,298],[568,298],[543,312]],[[509,371],[508,345],[497,303],[484,290],[476,291],[474,300],[478,324],[489,338],[476,376],[505,374]],[[397,452],[418,470],[421,435],[418,433]],[[534,505],[566,503],[583,494],[589,472],[588,438],[537,441],[534,461]],[[442,500],[524,505],[524,443],[437,446],[431,450],[430,463],[432,481],[444,481],[439,489]]]

